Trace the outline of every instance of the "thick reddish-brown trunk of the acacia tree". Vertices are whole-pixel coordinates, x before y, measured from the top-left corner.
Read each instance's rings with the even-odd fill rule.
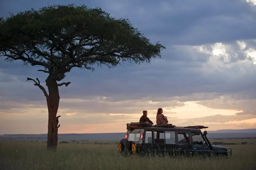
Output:
[[[47,100],[48,107],[48,134],[47,134],[47,149],[55,150],[58,144],[58,123],[59,117],[56,117],[59,108],[59,89],[58,83],[50,76],[46,79],[49,97]]]

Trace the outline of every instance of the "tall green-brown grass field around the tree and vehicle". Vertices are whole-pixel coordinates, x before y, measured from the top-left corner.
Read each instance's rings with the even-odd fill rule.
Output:
[[[220,141],[220,140],[218,140]],[[229,140],[230,142],[231,140]],[[255,170],[256,140],[232,145],[229,159],[125,158],[114,144],[58,144],[49,153],[43,142],[0,141],[1,170]],[[232,141],[241,143],[241,141]]]

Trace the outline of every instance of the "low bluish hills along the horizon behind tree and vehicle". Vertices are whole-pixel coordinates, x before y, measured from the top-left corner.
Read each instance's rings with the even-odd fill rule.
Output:
[[[59,141],[102,141],[102,140],[121,140],[125,133],[101,133],[101,134],[59,134]],[[208,131],[209,139],[234,139],[234,138],[256,138],[256,129],[227,129],[218,131]],[[4,134],[0,135],[0,140],[37,140],[47,141],[47,134]]]

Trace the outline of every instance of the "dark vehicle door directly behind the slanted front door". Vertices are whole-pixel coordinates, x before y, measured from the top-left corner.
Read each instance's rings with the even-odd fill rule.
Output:
[[[178,140],[178,153],[180,155],[190,155],[192,149],[191,133],[186,131],[176,131],[176,138]],[[188,139],[187,139],[188,138]]]

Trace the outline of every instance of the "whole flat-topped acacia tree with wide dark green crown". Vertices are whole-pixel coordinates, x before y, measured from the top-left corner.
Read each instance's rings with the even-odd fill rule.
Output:
[[[94,65],[115,67],[119,62],[150,62],[160,58],[165,46],[150,43],[127,19],[111,17],[101,8],[54,5],[0,18],[0,57],[38,65],[48,74],[46,89],[38,78],[32,80],[44,93],[48,107],[47,148],[58,144],[58,83],[72,68],[94,70]]]

